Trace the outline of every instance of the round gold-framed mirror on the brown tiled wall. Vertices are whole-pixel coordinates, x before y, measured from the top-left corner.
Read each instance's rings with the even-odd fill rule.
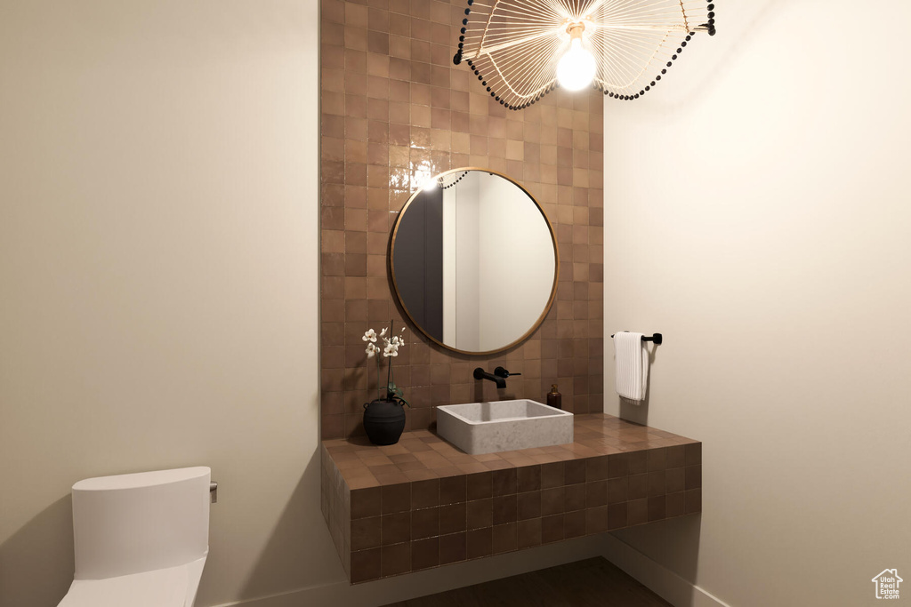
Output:
[[[395,295],[417,329],[448,349],[489,354],[527,338],[557,290],[557,239],[512,179],[457,168],[408,199],[393,231]]]

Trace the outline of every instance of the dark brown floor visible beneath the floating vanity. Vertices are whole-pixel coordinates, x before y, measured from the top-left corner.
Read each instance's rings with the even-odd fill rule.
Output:
[[[601,558],[431,594],[386,607],[672,607]]]

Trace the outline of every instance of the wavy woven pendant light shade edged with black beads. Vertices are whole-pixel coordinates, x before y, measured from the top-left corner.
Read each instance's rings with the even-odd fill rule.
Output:
[[[693,35],[715,34],[714,0],[467,2],[453,63],[465,61],[486,92],[512,110],[560,86],[558,62],[570,47],[594,57],[592,87],[630,100],[658,84]],[[585,86],[588,76],[581,78]]]

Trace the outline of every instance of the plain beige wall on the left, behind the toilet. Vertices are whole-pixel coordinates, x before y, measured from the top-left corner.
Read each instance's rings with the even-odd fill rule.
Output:
[[[189,465],[220,482],[200,604],[338,578],[310,549],[317,6],[0,14],[0,604],[66,592],[73,482]]]

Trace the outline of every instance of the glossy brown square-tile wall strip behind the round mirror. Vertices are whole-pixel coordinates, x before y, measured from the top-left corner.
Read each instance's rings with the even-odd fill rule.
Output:
[[[602,409],[601,96],[557,91],[526,110],[504,109],[466,64],[452,64],[465,7],[322,0],[323,439],[363,433],[376,379],[361,336],[389,319],[402,326],[387,276],[391,229],[415,174],[455,167],[506,173],[537,198],[558,239],[557,298],[530,339],[496,356],[455,354],[408,331],[394,369],[414,407],[407,429],[430,427],[435,405],[543,400],[555,382],[564,409]],[[475,367],[498,364],[523,375],[498,393],[472,379]],[[483,550],[477,541],[486,540],[440,550]]]

